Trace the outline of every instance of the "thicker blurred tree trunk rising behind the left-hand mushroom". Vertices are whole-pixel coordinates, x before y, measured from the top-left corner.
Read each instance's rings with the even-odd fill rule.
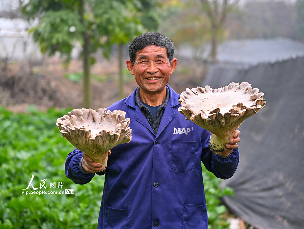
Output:
[[[87,33],[83,34],[83,108],[91,108],[91,79],[90,79],[90,38]]]

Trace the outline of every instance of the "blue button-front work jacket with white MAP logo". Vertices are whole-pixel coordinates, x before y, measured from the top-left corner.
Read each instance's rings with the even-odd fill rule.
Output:
[[[108,110],[126,111],[132,140],[111,149],[98,229],[207,229],[208,218],[201,161],[221,179],[230,178],[238,150],[223,158],[209,150],[210,132],[178,112],[179,94],[170,98],[157,134],[135,104],[135,91]],[[79,170],[82,152],[67,156],[66,175],[85,184],[95,175]],[[100,173],[97,173],[101,175]]]

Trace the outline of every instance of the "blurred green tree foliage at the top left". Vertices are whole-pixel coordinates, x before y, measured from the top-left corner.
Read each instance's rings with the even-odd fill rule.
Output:
[[[155,0],[20,1],[28,20],[40,19],[29,32],[49,55],[59,51],[69,58],[75,42],[83,46],[88,36],[89,52],[102,47],[108,57],[112,44],[126,44],[158,23]]]

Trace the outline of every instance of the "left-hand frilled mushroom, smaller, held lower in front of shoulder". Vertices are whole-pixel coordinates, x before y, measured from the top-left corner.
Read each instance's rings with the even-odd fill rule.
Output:
[[[105,169],[108,151],[114,146],[131,141],[131,131],[124,111],[99,108],[74,109],[57,119],[61,135]]]

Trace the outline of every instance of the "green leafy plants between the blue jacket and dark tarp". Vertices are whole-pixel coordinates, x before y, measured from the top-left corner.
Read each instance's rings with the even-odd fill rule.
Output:
[[[232,196],[230,187],[220,188],[221,179],[210,173],[202,164],[204,189],[208,208],[209,229],[229,229],[229,223],[225,220],[227,208],[220,201],[223,196]]]

